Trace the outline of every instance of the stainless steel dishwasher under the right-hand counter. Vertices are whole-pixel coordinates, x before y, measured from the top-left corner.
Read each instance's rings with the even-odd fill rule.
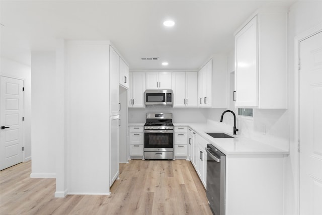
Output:
[[[225,214],[226,156],[207,144],[207,198],[214,215]]]

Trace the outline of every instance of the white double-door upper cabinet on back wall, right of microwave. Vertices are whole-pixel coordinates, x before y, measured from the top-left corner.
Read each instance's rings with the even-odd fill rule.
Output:
[[[173,107],[198,107],[197,72],[172,73]]]

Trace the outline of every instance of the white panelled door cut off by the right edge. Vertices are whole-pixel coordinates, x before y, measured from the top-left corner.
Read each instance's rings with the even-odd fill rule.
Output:
[[[300,42],[300,214],[322,214],[322,32]]]

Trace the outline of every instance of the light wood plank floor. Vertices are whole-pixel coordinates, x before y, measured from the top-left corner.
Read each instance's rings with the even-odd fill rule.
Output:
[[[0,214],[212,214],[192,164],[120,164],[111,195],[54,198],[55,179],[30,178],[31,162],[0,171]]]

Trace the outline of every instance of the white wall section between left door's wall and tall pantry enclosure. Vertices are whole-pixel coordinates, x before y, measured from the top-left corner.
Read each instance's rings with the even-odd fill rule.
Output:
[[[31,53],[31,177],[56,176],[56,53]]]

